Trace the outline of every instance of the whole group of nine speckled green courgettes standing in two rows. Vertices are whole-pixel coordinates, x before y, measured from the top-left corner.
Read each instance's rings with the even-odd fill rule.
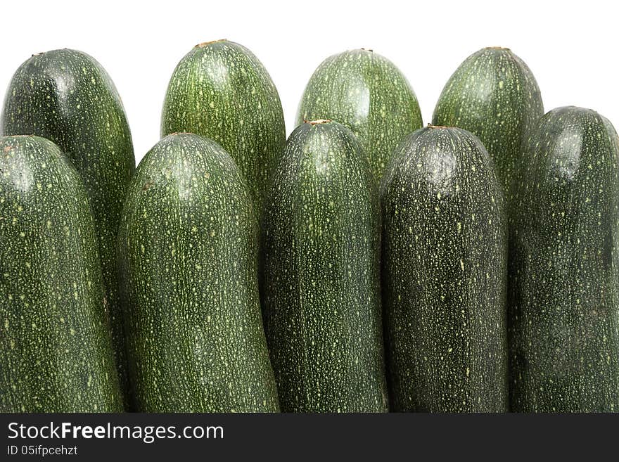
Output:
[[[286,142],[260,61],[214,41],[134,172],[101,65],[32,56],[0,123],[0,410],[617,410],[618,137],[542,114],[489,48],[421,128],[355,50]]]

